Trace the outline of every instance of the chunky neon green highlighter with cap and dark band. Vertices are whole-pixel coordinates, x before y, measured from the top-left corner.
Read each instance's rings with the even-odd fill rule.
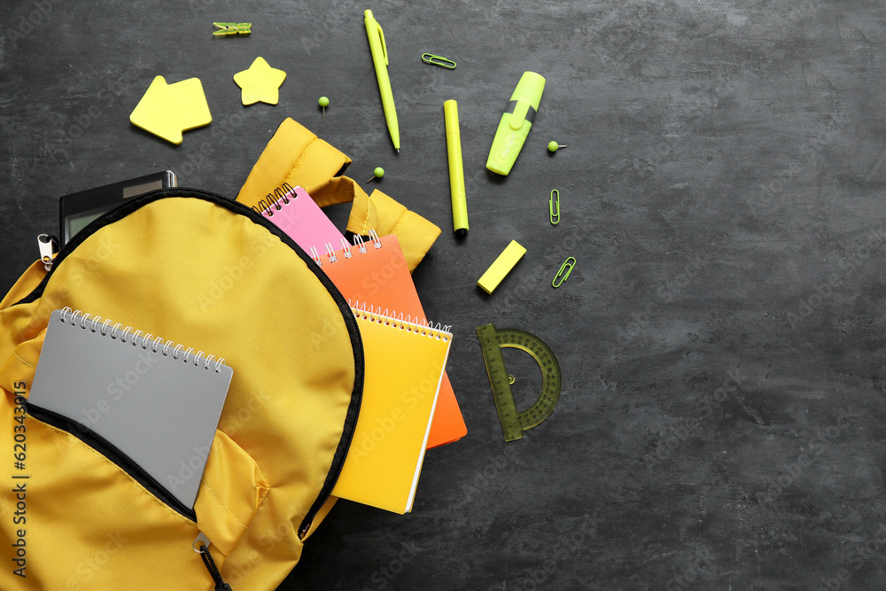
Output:
[[[545,79],[534,72],[524,72],[514,94],[510,96],[508,109],[501,115],[498,131],[495,132],[493,147],[486,159],[486,168],[507,175],[523,149],[535,112],[539,109],[541,93],[545,89]]]

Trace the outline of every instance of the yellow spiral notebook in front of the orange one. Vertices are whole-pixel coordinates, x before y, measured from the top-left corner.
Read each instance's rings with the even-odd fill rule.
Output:
[[[351,308],[363,341],[363,400],[332,494],[395,513],[416,496],[452,334],[379,311]]]

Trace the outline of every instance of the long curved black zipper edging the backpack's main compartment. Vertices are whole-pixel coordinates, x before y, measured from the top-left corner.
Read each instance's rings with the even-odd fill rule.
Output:
[[[335,484],[338,481],[338,476],[341,474],[341,470],[345,464],[345,456],[347,455],[347,450],[351,447],[351,440],[354,439],[354,429],[357,425],[357,416],[360,412],[360,405],[363,395],[363,344],[360,338],[360,330],[357,328],[357,321],[354,319],[354,314],[351,312],[351,307],[348,306],[347,301],[341,295],[341,292],[338,291],[338,288],[335,286],[335,284],[332,283],[330,278],[326,276],[326,274],[323,273],[323,271],[320,270],[319,267],[316,266],[311,257],[307,253],[305,253],[305,251],[298,244],[296,244],[295,241],[292,240],[292,238],[289,237],[288,234],[286,234],[282,229],[277,228],[274,222],[271,222],[265,216],[253,210],[252,207],[247,207],[238,201],[212,191],[203,191],[201,189],[192,189],[188,187],[169,187],[165,189],[154,189],[152,191],[147,191],[142,193],[141,195],[137,195],[136,197],[128,198],[120,203],[120,205],[114,206],[112,209],[109,209],[105,212],[105,214],[102,214],[97,219],[89,222],[86,226],[83,227],[83,229],[81,229],[73,237],[71,237],[66,245],[64,245],[61,250],[58,251],[55,259],[52,261],[52,268],[46,273],[45,276],[43,276],[41,282],[37,284],[34,290],[28,293],[27,296],[19,299],[19,301],[13,304],[13,306],[30,303],[34,301],[34,299],[36,299],[41,293],[43,293],[43,289],[49,282],[50,276],[58,268],[58,264],[61,261],[64,261],[68,254],[72,253],[77,246],[81,245],[82,242],[89,238],[93,233],[95,233],[97,229],[100,229],[109,223],[117,222],[118,220],[126,217],[128,214],[136,211],[140,207],[147,205],[148,203],[152,203],[153,201],[157,201],[161,198],[167,197],[202,198],[205,201],[210,201],[216,205],[223,206],[232,213],[245,215],[253,222],[259,224],[260,226],[264,226],[276,237],[279,237],[284,245],[288,245],[289,247],[291,247],[291,249],[295,251],[295,253],[298,254],[303,261],[307,263],[307,267],[314,271],[315,276],[317,276],[317,278],[326,288],[326,291],[330,292],[332,299],[335,300],[339,311],[344,317],[348,335],[351,338],[351,347],[354,350],[354,392],[351,394],[351,403],[350,405],[348,405],[347,408],[345,424],[342,430],[342,437],[338,441],[338,447],[336,448],[335,455],[333,456],[330,471],[326,475],[326,480],[323,482],[323,488],[321,489],[320,494],[317,496],[314,504],[311,505],[311,508],[308,509],[307,513],[305,514],[305,518],[302,520],[301,525],[299,525],[299,540],[304,540],[307,532],[311,529],[311,525],[314,523],[314,517],[316,517],[320,509],[323,509],[323,505],[326,504],[326,502],[329,501],[330,496],[332,496],[332,489],[335,487]],[[357,361],[359,361],[359,363]],[[120,452],[120,454],[124,455],[122,454],[122,452]],[[129,460],[129,462],[132,463],[132,460]]]

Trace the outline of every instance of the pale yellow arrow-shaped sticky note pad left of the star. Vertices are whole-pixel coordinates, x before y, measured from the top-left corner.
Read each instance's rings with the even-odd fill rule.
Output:
[[[167,142],[181,144],[183,131],[209,125],[213,116],[197,78],[167,84],[163,76],[157,76],[129,114],[129,121]]]

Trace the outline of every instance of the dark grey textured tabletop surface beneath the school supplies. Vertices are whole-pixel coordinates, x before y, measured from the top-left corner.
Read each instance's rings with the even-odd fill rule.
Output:
[[[385,27],[399,156],[365,8]],[[253,35],[214,39],[214,20]],[[163,168],[236,195],[286,116],[361,182],[385,167],[379,187],[444,230],[415,279],[454,324],[469,434],[427,455],[411,515],[339,503],[281,589],[882,588],[882,2],[7,0],[0,24],[3,292],[57,231],[59,195]],[[259,55],[288,73],[280,104],[243,107],[231,76]],[[538,118],[509,177],[487,174],[525,70],[548,79]],[[198,76],[214,115],[179,147],[128,122],[157,74]],[[548,156],[551,139],[570,147]],[[512,238],[528,253],[487,297],[475,282]],[[484,323],[538,334],[563,368],[522,441],[501,437]]]

